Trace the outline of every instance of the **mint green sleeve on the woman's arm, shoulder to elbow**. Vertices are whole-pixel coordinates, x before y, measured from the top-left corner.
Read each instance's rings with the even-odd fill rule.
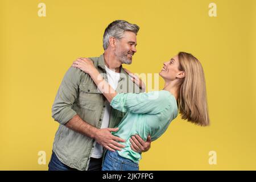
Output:
[[[110,105],[122,112],[158,114],[166,104],[166,97],[168,96],[164,92],[119,93]]]

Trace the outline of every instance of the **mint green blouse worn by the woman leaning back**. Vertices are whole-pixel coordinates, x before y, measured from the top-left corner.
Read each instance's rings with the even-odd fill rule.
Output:
[[[146,140],[150,134],[151,140],[156,140],[178,114],[176,99],[166,90],[139,94],[119,93],[110,105],[126,113],[117,126],[119,130],[112,134],[126,140],[125,143],[120,142],[125,148],[118,151],[118,154],[134,163],[139,163],[141,154],[131,149],[131,136],[138,134]]]

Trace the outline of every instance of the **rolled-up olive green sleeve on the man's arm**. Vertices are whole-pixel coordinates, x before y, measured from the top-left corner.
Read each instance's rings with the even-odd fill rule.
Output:
[[[80,77],[79,69],[69,68],[57,91],[52,105],[52,118],[61,125],[65,125],[77,114],[72,106],[79,94]]]

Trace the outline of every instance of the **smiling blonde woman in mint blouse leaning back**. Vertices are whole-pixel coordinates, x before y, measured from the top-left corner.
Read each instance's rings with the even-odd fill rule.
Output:
[[[165,84],[163,90],[148,93],[117,93],[104,81],[91,60],[77,60],[73,67],[88,73],[110,105],[127,114],[113,135],[126,139],[121,151],[107,151],[102,170],[139,169],[141,154],[131,148],[130,137],[138,134],[143,140],[148,134],[151,140],[158,139],[170,122],[177,117],[200,126],[209,125],[205,78],[199,60],[190,53],[179,52],[164,63],[159,73]]]

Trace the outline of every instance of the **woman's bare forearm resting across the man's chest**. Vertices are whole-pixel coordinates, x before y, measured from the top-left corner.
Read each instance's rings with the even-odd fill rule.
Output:
[[[111,102],[112,99],[117,95],[117,92],[109,85],[108,82],[102,78],[100,72],[97,69],[93,69],[89,73],[90,77],[92,77],[94,83],[98,86],[98,89],[104,94],[106,99]]]

